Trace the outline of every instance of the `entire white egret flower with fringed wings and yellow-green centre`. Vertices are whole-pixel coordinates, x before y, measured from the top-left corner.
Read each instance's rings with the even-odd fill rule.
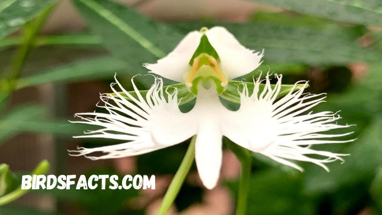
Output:
[[[189,61],[204,35],[219,55],[220,64],[212,55],[199,54],[194,57],[191,66]],[[321,134],[331,129],[349,127],[335,123],[340,118],[337,113],[324,111],[303,114],[323,102],[323,94],[304,94],[304,88],[297,88],[297,84],[301,83],[298,82],[288,94],[276,99],[280,93],[282,76],[275,75],[277,83],[272,87],[267,75],[263,90],[259,88],[260,77],[253,80],[253,91],[248,90],[249,83],[243,82],[243,90],[238,92],[238,111],[230,111],[220,103],[217,88],[226,86],[232,78],[254,70],[260,64],[261,57],[262,54],[243,47],[222,27],[202,33],[189,33],[167,57],[158,60],[157,64],[146,64],[146,67],[153,73],[175,81],[184,81],[188,87],[196,87],[194,108],[186,113],[181,112],[178,108],[178,90],[169,93],[171,86],[163,88],[161,78],[155,78],[154,85],[145,96],[133,80],[131,83],[136,96],[126,91],[115,79],[116,83],[111,88],[116,96],[100,96],[104,104],[99,107],[105,108],[108,113],[75,114],[82,121],[74,123],[99,125],[100,129],[75,138],[109,138],[123,140],[125,143],[78,148],[70,151],[71,155],[83,155],[92,160],[141,155],[170,147],[196,135],[195,160],[199,176],[204,186],[212,189],[219,179],[222,137],[225,136],[241,147],[300,171],[303,169],[290,160],[312,162],[329,171],[325,164],[343,161],[341,156],[345,154],[314,150],[312,146],[353,140],[330,139],[351,133]],[[203,80],[193,82],[198,77]],[[210,77],[219,78],[220,86]],[[307,82],[304,84],[308,85]],[[124,95],[114,88],[115,85]],[[91,156],[92,153],[102,155]],[[319,155],[320,158],[311,158],[309,155]]]

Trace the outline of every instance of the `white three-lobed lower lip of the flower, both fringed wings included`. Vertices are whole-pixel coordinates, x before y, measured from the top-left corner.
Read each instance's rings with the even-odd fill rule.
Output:
[[[281,75],[272,89],[269,77],[266,86],[258,96],[259,79],[254,84],[253,92],[246,85],[240,92],[241,106],[238,111],[229,111],[219,101],[215,88],[209,90],[199,88],[194,108],[182,113],[178,108],[177,90],[169,94],[163,90],[163,82],[155,79],[146,98],[143,98],[134,85],[138,99],[129,94],[117,81],[121,90],[132,100],[121,96],[111,85],[118,97],[102,94],[104,113],[81,113],[76,116],[84,123],[99,125],[102,128],[86,132],[81,137],[110,138],[125,140],[118,145],[79,148],[76,156],[84,155],[92,160],[120,158],[148,153],[181,143],[193,135],[196,136],[196,164],[203,184],[212,189],[219,178],[222,163],[222,136],[230,138],[238,145],[251,151],[269,156],[275,161],[302,168],[288,160],[309,161],[329,170],[325,163],[343,159],[344,154],[329,151],[318,151],[310,147],[323,143],[343,143],[353,140],[328,140],[346,134],[319,134],[330,129],[349,127],[349,125],[333,124],[339,119],[335,113],[325,111],[312,114],[301,114],[321,103],[325,96],[319,94],[303,94],[304,89],[293,89],[283,98],[275,101],[280,90]],[[297,84],[297,83],[296,83]],[[306,83],[307,84],[307,83]],[[165,98],[167,98],[166,101]],[[148,101],[148,102],[146,102]],[[129,117],[126,117],[128,115]],[[94,152],[102,152],[102,156],[88,156]],[[321,155],[325,158],[310,158],[307,155]]]

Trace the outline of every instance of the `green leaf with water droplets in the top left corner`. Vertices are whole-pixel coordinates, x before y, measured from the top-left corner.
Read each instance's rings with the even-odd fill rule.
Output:
[[[3,0],[0,2],[0,38],[35,18],[57,0]]]

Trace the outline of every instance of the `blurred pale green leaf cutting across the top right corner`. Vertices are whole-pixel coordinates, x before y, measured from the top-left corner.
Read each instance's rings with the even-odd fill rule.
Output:
[[[382,2],[379,0],[256,0],[287,10],[347,23],[380,26]]]

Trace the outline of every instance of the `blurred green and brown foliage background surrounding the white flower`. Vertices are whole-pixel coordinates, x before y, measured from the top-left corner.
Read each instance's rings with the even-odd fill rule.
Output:
[[[64,2],[74,5],[87,27],[40,33],[45,21]],[[72,119],[74,112],[93,111],[98,93],[109,92],[108,84],[115,73],[126,88],[131,88],[129,79],[133,75],[147,73],[142,63],[165,56],[189,31],[215,25],[226,27],[244,46],[265,50],[261,67],[244,78],[251,79],[260,70],[270,70],[282,73],[284,84],[309,80],[309,91],[328,93],[327,103],[320,104],[316,111],[341,110],[340,123],[355,124],[348,131],[354,131],[352,137],[358,137],[351,143],[321,146],[351,154],[343,164],[330,163],[330,173],[312,164],[301,164],[305,171],[299,173],[254,154],[248,214],[382,214],[382,2],[258,0],[244,5],[247,3],[255,3],[256,7],[246,10],[245,19],[228,22],[230,19],[225,16],[237,8],[227,7],[227,14],[222,12],[217,17],[199,15],[169,20],[136,10],[150,4],[150,0],[127,4],[109,0],[2,0],[0,163],[4,164],[0,165],[0,214],[154,214],[152,203],[160,202],[188,143],[141,155],[133,162],[128,159],[89,162],[85,158],[69,158],[66,149],[115,142],[74,141],[72,135],[88,128],[69,125],[67,120]],[[166,8],[155,8],[155,4],[152,7],[168,13],[190,7],[191,13],[195,12],[190,5],[172,2]],[[138,81],[142,90],[152,83],[149,77],[138,77]],[[43,99],[36,101],[33,99],[36,97]],[[20,134],[33,135],[23,138]],[[44,144],[39,143],[42,139]],[[17,148],[18,144],[22,147]],[[45,153],[33,150],[28,153],[30,148],[40,148]],[[223,168],[228,166],[233,171],[239,168],[230,166],[233,161],[228,161],[223,162]],[[18,168],[14,169],[12,164]],[[48,173],[56,175],[155,174],[159,176],[157,187],[162,189],[155,193],[39,190],[16,200],[25,194],[18,188],[19,176],[33,166],[34,172],[40,174],[48,171],[49,166]],[[195,171],[193,166],[191,173]],[[220,186],[212,192],[206,191],[194,176],[191,174],[183,185],[175,201],[174,210],[178,212],[174,214],[234,211],[237,174],[222,177]],[[231,191],[228,200],[219,195],[221,190]],[[218,201],[215,208],[228,209],[207,210],[204,206],[214,204],[211,199]]]

